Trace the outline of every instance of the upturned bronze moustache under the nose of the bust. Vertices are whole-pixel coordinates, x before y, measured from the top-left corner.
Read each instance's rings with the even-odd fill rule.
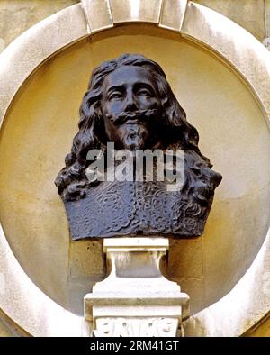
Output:
[[[120,125],[123,123],[136,123],[136,121],[143,123],[157,114],[157,108],[148,110],[136,110],[132,112],[121,112],[120,114],[107,114],[106,117],[111,120],[113,124]]]

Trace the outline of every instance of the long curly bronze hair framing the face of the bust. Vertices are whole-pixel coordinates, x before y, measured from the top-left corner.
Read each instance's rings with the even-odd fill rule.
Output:
[[[89,181],[85,169],[91,161],[86,159],[89,150],[104,150],[107,139],[103,127],[101,98],[103,96],[103,80],[112,71],[122,66],[138,66],[146,68],[157,81],[157,89],[163,106],[161,119],[166,120],[166,130],[162,137],[162,146],[174,145],[175,148],[192,150],[211,168],[210,160],[204,157],[198,148],[199,134],[187,122],[184,109],[179,105],[169,86],[162,68],[153,60],[139,54],[123,54],[119,58],[104,61],[95,68],[88,89],[80,106],[79,131],[74,137],[72,149],[67,154],[65,168],[58,173],[55,184],[58,194],[66,201],[83,198]]]

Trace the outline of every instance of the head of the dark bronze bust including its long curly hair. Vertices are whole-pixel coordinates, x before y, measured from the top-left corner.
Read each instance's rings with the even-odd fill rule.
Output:
[[[198,148],[198,132],[187,122],[163,69],[142,55],[124,54],[94,69],[78,127],[66,167],[56,179],[64,200],[85,196],[87,152],[101,149],[108,141],[116,149],[174,146],[193,150],[211,168]]]

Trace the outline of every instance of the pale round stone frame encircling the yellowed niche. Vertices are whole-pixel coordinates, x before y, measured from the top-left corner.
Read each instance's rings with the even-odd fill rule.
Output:
[[[270,118],[270,53],[249,32],[228,18],[186,0],[83,0],[49,16],[24,32],[0,55],[0,122],[24,81],[58,51],[94,33],[128,23],[148,23],[175,32],[210,50],[244,80],[257,98],[266,122]],[[40,43],[42,46],[40,47]],[[40,50],[35,50],[39,45]],[[83,317],[68,312],[36,287],[1,230],[0,297],[5,321],[21,334],[87,336]],[[270,310],[263,276],[270,270],[270,236],[238,284],[214,305],[185,323],[186,335],[239,336],[260,323]],[[243,302],[243,296],[248,295]]]

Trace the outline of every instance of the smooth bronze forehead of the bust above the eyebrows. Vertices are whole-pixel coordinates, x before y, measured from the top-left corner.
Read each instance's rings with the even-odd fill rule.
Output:
[[[146,68],[122,66],[105,77],[103,88],[109,89],[112,86],[129,86],[137,83],[155,86],[156,80]]]

